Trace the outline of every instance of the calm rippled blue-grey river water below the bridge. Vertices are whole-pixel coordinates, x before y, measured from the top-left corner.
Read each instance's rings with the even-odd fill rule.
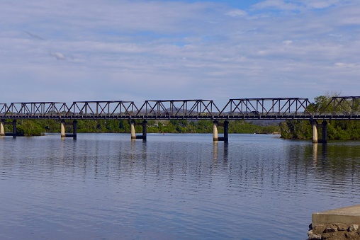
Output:
[[[278,135],[0,139],[0,239],[306,239],[360,204],[360,142]]]

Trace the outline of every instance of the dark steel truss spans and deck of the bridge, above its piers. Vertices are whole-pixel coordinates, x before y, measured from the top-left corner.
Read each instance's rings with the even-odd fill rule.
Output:
[[[360,120],[360,96],[333,97],[321,110],[308,98],[0,103],[0,119]]]

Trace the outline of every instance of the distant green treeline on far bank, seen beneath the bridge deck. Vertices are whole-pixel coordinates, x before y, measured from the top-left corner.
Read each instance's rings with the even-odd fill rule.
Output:
[[[7,120],[5,132],[12,132],[11,120]],[[142,120],[137,120],[141,123]],[[221,123],[221,122],[220,122]],[[280,132],[279,122],[247,122],[234,120],[229,122],[229,133],[264,133]],[[72,132],[72,126],[66,126],[66,132]],[[142,126],[136,125],[136,132],[142,132]],[[43,132],[60,132],[60,120],[18,120],[17,135],[37,136]],[[130,133],[130,120],[77,120],[77,132],[118,132]],[[212,133],[212,120],[147,120],[149,133]],[[218,128],[223,132],[223,127]]]

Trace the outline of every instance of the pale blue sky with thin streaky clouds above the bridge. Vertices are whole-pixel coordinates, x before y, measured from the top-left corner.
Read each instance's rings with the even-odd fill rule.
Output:
[[[2,1],[1,103],[360,96],[360,2]]]

